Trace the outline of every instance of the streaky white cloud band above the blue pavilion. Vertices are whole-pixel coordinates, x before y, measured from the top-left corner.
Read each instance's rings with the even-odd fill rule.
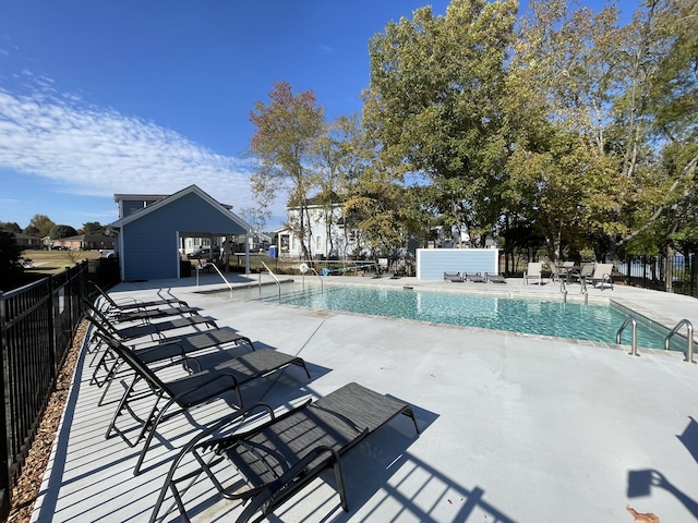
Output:
[[[50,179],[72,194],[171,194],[195,183],[234,211],[250,206],[249,162],[58,94],[49,78],[33,85],[21,95],[0,88],[0,168]]]

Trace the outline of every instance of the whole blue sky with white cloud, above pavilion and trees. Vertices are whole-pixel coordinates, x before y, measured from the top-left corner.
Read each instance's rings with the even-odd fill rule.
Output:
[[[448,1],[2,1],[0,221],[109,223],[115,193],[192,183],[242,215],[253,104],[286,81],[359,112],[369,39],[425,4]]]

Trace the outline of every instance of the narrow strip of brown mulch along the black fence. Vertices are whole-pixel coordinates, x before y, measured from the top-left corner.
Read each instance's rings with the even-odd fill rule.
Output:
[[[56,438],[56,433],[58,431],[61,416],[63,415],[63,409],[68,401],[70,385],[86,331],[87,321],[83,321],[77,327],[75,337],[73,338],[73,344],[58,375],[56,390],[51,394],[36,439],[32,443],[32,449],[29,449],[29,453],[22,467],[22,475],[12,489],[12,506],[10,508],[8,523],[24,523],[32,519],[34,502],[41,488],[44,472],[48,466],[53,439]]]

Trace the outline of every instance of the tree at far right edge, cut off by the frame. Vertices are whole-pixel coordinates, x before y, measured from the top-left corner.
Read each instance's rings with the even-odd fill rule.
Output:
[[[645,183],[646,205],[631,200],[628,230],[615,242],[628,244],[649,233],[672,254],[695,234],[698,163],[697,0],[647,0],[624,28],[618,69],[628,78],[615,109],[629,136],[623,174],[640,179],[642,160],[654,175]],[[659,154],[658,154],[659,153]],[[623,212],[616,210],[616,214]],[[635,242],[637,243],[637,242]]]

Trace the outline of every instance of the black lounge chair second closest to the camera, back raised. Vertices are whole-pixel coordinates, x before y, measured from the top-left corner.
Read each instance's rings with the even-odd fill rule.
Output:
[[[231,357],[214,367],[166,381],[128,346],[109,337],[103,335],[97,336],[101,337],[103,341],[109,345],[109,349],[112,350],[120,360],[123,360],[135,374],[119,401],[117,411],[111,418],[106,434],[107,439],[113,436],[120,436],[129,447],[135,447],[145,438],[135,467],[133,469],[134,475],[141,473],[141,465],[151,447],[153,437],[157,433],[159,424],[164,421],[186,413],[195,406],[218,400],[229,392],[236,393],[238,409],[242,409],[244,405],[240,389],[243,385],[281,370],[289,365],[302,367],[310,379],[310,372],[303,358],[272,349],[263,349]],[[177,365],[181,363],[182,362],[174,362]],[[160,367],[160,370],[163,367]],[[147,393],[136,391],[136,386],[142,381],[147,386]],[[133,402],[142,399],[153,400],[153,406],[145,416],[141,414],[141,410],[136,413],[133,408]],[[165,403],[160,406],[163,402]],[[169,409],[173,405],[176,405],[177,410],[170,412]],[[129,413],[131,417],[137,422],[139,426],[125,430],[119,428],[117,421],[124,413]],[[130,439],[127,435],[127,433],[131,430],[139,430],[134,439]]]

